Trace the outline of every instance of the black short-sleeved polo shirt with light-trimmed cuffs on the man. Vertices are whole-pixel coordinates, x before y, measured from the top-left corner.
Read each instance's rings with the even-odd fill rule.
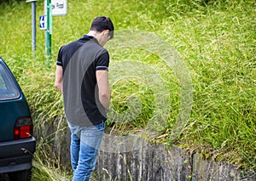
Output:
[[[95,37],[84,35],[60,48],[57,65],[63,68],[67,122],[90,126],[106,121],[107,113],[99,101],[96,71],[108,70],[108,51]]]

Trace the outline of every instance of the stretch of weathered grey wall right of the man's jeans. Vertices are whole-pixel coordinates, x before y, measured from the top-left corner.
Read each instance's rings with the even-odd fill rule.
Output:
[[[189,155],[177,146],[145,144],[126,153],[100,151],[96,172],[99,180],[142,181],[229,181],[256,180],[255,175],[242,176],[227,162],[202,160],[199,154]]]

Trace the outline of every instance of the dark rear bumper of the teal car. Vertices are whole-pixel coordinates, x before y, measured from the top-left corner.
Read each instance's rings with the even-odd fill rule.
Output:
[[[36,140],[34,138],[1,142],[0,173],[30,169],[35,150]]]

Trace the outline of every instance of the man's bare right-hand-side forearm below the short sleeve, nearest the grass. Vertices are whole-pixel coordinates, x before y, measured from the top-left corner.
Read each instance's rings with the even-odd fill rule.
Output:
[[[110,88],[108,83],[108,71],[98,70],[96,71],[96,80],[99,88],[99,99],[105,110],[109,110],[110,105]]]

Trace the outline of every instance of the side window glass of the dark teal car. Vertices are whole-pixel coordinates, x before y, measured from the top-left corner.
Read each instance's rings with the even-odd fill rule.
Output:
[[[0,100],[16,99],[18,97],[20,97],[19,89],[9,75],[9,71],[0,63]]]

